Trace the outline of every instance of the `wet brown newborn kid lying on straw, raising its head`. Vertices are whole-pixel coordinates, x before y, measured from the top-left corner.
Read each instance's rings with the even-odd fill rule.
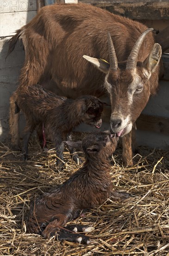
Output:
[[[102,204],[109,197],[118,201],[130,196],[128,193],[113,191],[109,157],[113,154],[117,141],[118,137],[110,131],[91,133],[82,142],[67,141],[70,147],[82,144],[86,161],[66,182],[44,193],[32,203],[27,218],[29,232],[50,238],[57,231],[56,237],[59,240],[89,242],[87,236],[68,234],[67,229],[88,232],[90,227],[64,226],[77,217],[81,209]]]

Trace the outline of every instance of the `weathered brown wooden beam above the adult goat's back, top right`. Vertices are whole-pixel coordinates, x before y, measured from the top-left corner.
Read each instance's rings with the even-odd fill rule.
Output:
[[[79,0],[134,20],[168,20],[168,0]]]

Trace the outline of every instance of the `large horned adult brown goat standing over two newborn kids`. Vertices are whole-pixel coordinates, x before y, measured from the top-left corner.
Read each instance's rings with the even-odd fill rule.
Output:
[[[108,91],[111,128],[123,136],[124,163],[132,164],[131,128],[158,86],[162,51],[154,42],[152,30],[88,4],[43,7],[10,40],[9,53],[20,38],[25,47],[19,88],[37,84],[45,76],[54,81],[55,86],[48,89],[57,95],[98,97]],[[14,93],[10,99],[10,132],[12,144],[18,146],[15,101]]]

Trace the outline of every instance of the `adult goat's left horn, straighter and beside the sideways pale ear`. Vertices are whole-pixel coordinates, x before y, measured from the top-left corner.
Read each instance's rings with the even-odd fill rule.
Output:
[[[108,49],[109,49],[110,69],[117,70],[118,61],[117,61],[116,52],[113,46],[113,41],[109,32],[108,32]]]

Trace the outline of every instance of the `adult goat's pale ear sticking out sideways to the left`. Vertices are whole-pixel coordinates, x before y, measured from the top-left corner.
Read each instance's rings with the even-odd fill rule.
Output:
[[[83,55],[83,58],[86,59],[87,61],[91,62],[95,67],[97,67],[100,71],[104,73],[108,73],[110,64],[104,60],[97,59],[97,58],[92,58],[87,55]]]

